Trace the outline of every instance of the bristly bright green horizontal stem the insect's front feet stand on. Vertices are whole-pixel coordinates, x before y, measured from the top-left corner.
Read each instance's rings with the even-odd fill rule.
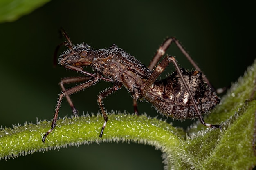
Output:
[[[45,143],[41,140],[45,132],[49,130],[51,121],[2,128],[0,158],[15,158],[37,151],[109,141],[150,144],[163,152],[170,148],[184,149],[181,146],[185,133],[166,121],[149,118],[146,115],[124,113],[109,113],[108,118],[109,121],[102,138],[99,137],[99,132],[103,118],[99,115],[59,119],[56,128],[47,136]]]

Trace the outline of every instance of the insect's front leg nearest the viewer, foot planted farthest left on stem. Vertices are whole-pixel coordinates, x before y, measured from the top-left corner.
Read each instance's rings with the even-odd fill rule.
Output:
[[[56,126],[56,122],[57,122],[57,119],[58,119],[58,113],[59,113],[59,110],[60,110],[60,107],[61,107],[61,101],[62,101],[63,97],[65,95],[72,95],[73,93],[76,93],[76,92],[81,91],[85,88],[88,88],[88,87],[94,85],[95,83],[97,83],[98,80],[99,80],[99,78],[96,77],[95,79],[93,79],[91,81],[84,82],[83,84],[80,84],[80,85],[75,86],[73,88],[67,89],[66,91],[63,91],[61,93],[61,95],[58,97],[58,103],[57,103],[56,110],[55,110],[55,113],[54,113],[54,118],[53,118],[53,121],[52,121],[51,129],[48,130],[45,133],[45,135],[43,136],[43,139],[42,139],[43,142],[45,142],[45,139],[46,139],[47,135],[49,135],[49,133],[51,133],[52,130]]]

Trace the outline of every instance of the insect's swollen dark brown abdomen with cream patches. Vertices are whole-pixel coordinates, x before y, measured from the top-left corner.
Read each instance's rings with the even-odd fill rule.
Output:
[[[182,70],[182,75],[201,114],[208,112],[220,102],[216,93],[205,85],[202,73]],[[197,117],[191,97],[177,72],[169,75],[166,79],[154,82],[146,93],[145,99],[167,117],[174,119]]]

